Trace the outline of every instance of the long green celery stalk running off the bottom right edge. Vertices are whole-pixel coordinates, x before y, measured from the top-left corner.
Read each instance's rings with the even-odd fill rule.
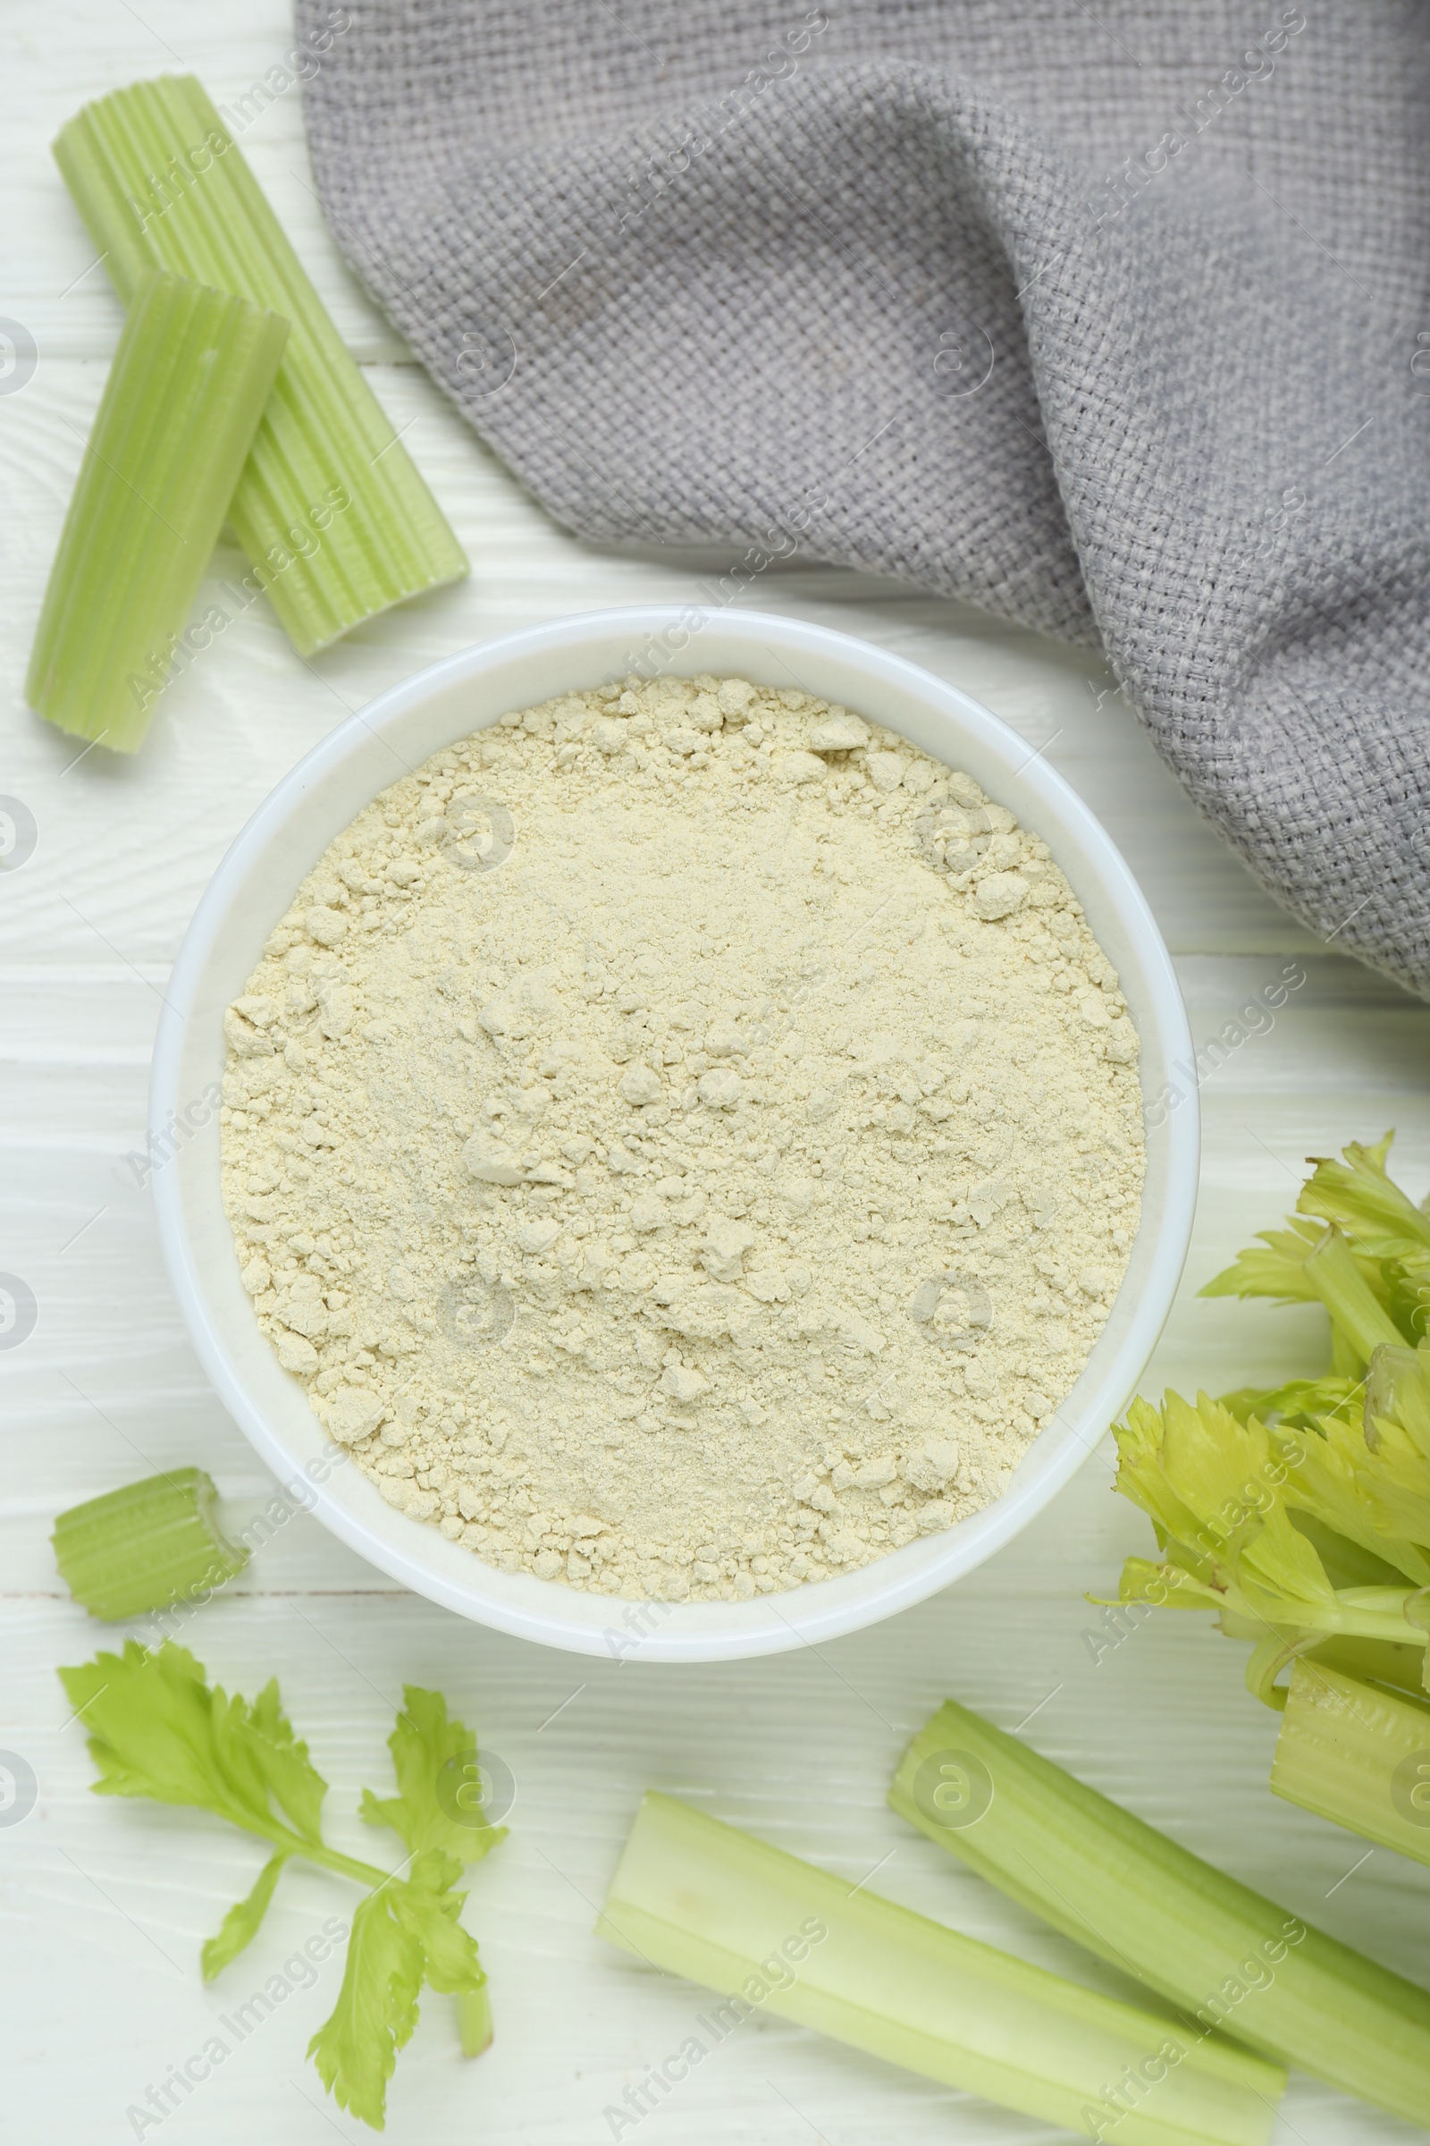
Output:
[[[905,1751],[890,1803],[1186,2022],[1394,2110],[1430,2112],[1430,1991],[1237,1884],[965,1706]]]

